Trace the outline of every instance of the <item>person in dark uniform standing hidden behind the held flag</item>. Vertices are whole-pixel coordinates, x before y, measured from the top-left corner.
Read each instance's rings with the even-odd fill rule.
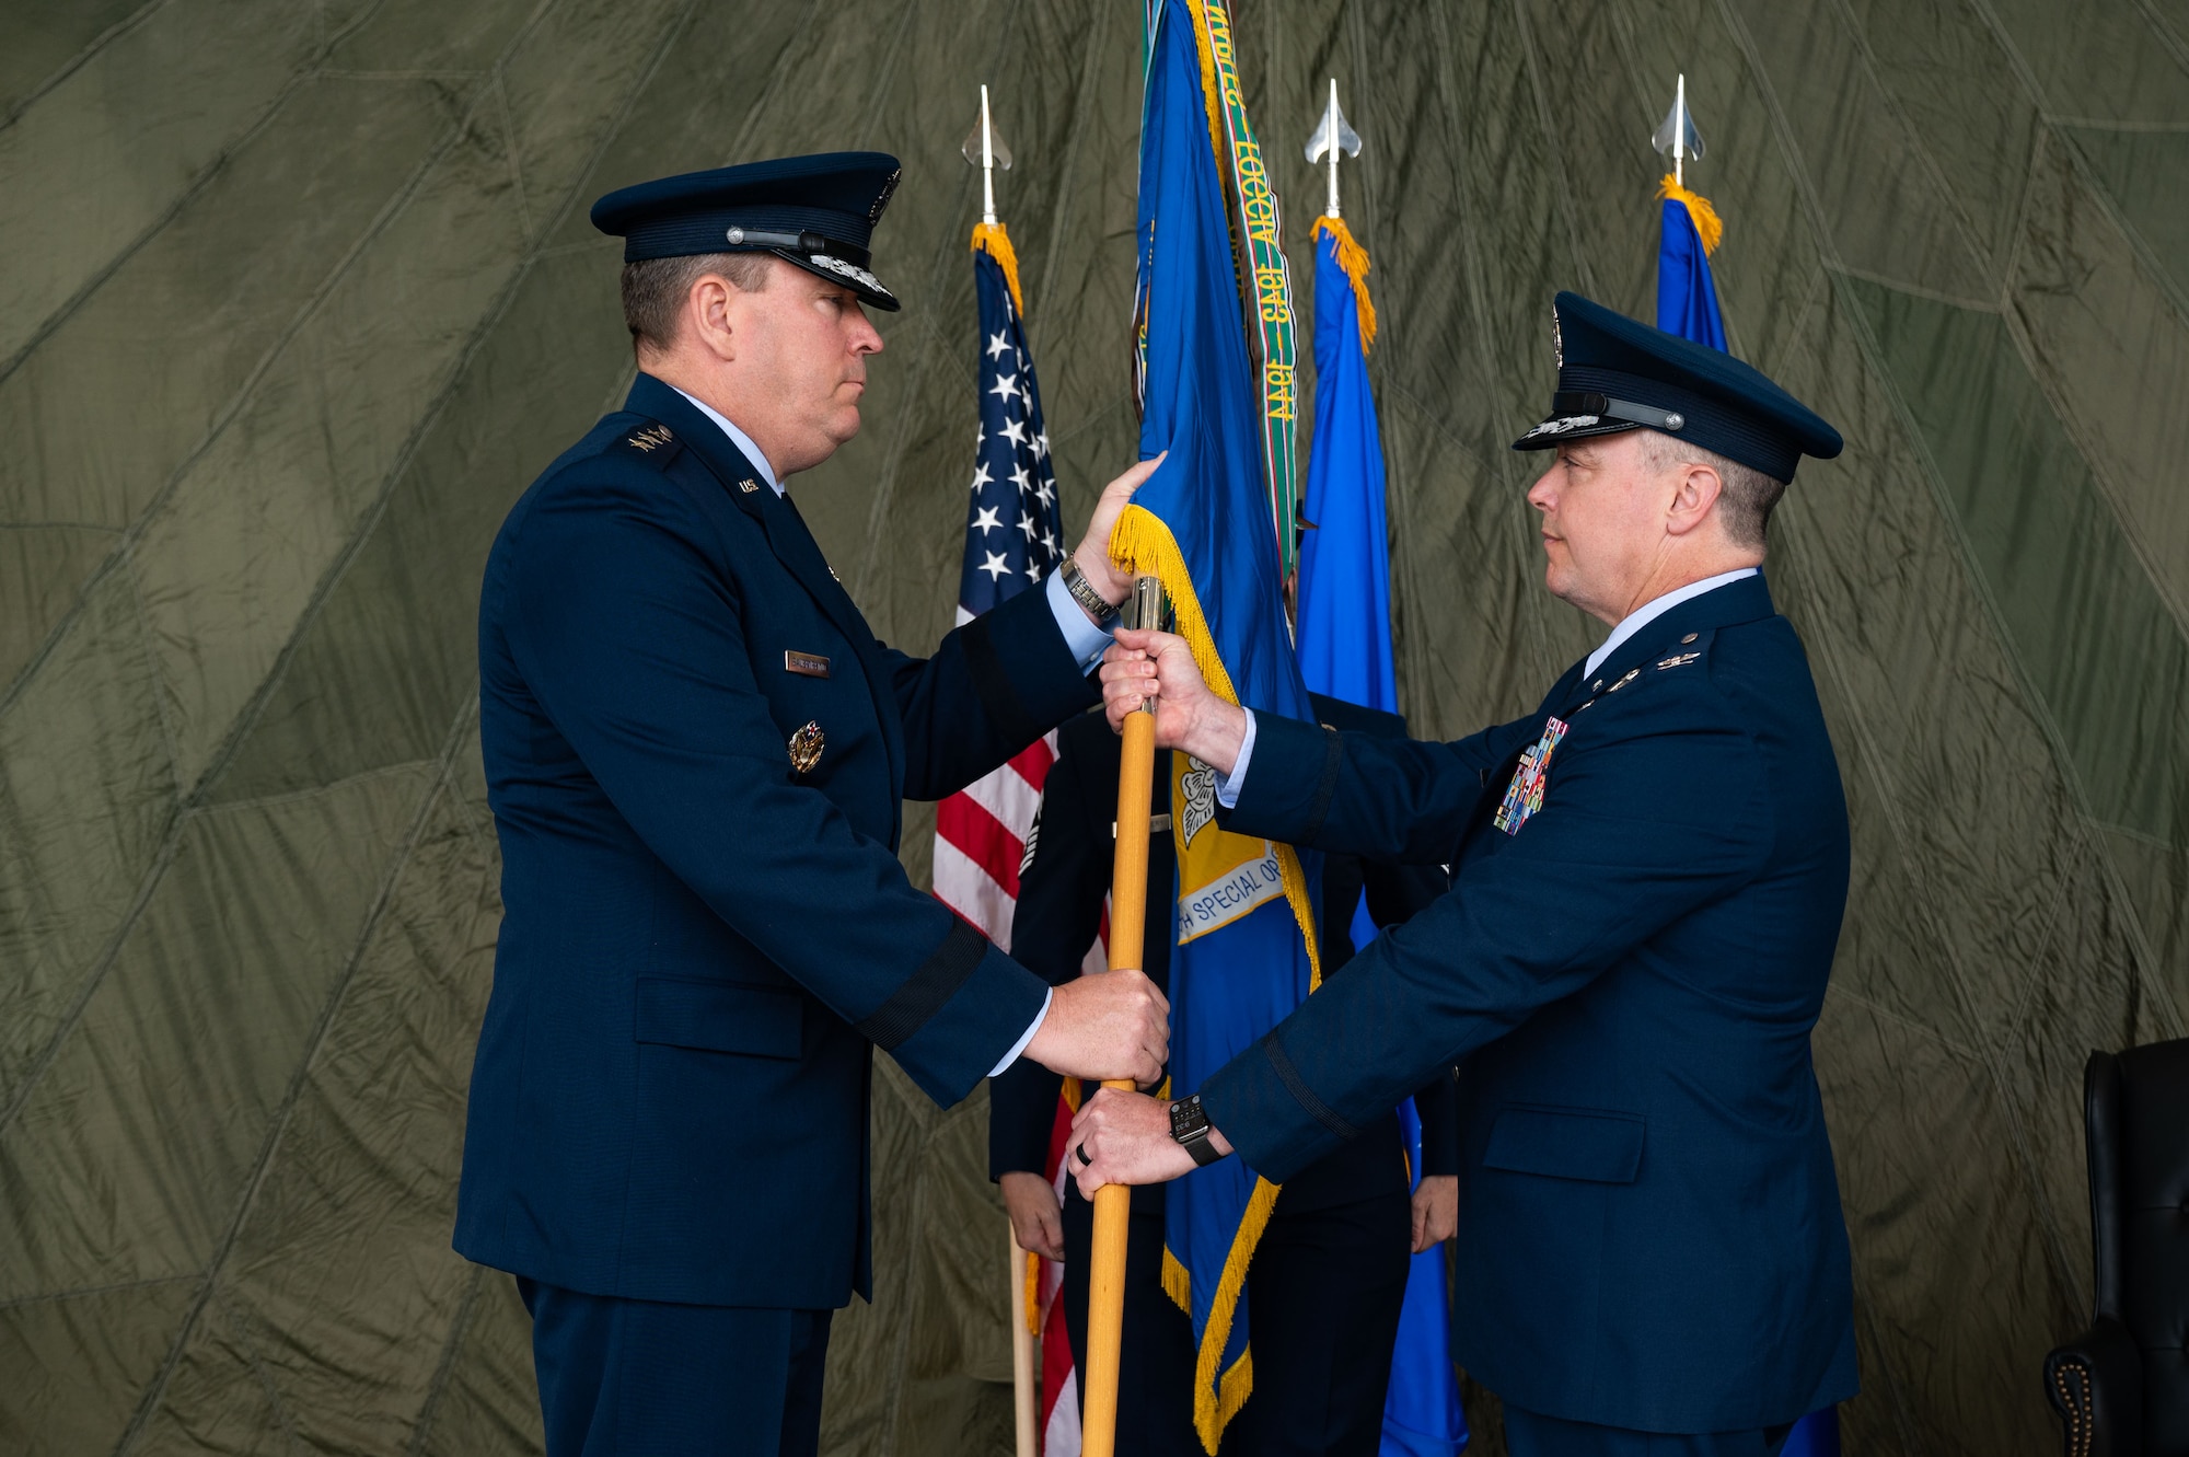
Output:
[[[1316,718],[1348,731],[1405,735],[1405,720],[1311,696]],[[1018,873],[1011,956],[1051,982],[1079,976],[1110,893],[1119,737],[1099,713],[1057,731],[1057,759],[1042,788],[1035,836]],[[1175,901],[1171,777],[1156,774],[1149,805],[1147,976],[1169,991]],[[1377,925],[1397,925],[1447,888],[1443,866],[1322,862],[1324,984],[1355,954],[1353,910],[1368,895]],[[1320,995],[1320,993],[1318,993]],[[1064,1319],[1075,1365],[1086,1367],[1088,1251],[1094,1210],[1075,1188],[1057,1208],[1042,1179],[1064,1079],[1020,1063],[989,1085],[989,1177],[1005,1184],[1011,1225],[1027,1249],[1064,1258]],[[1250,1457],[1375,1457],[1383,1394],[1405,1299],[1408,1249],[1451,1234],[1458,1175],[1458,1089],[1438,1068],[1414,1089],[1421,1114],[1423,1186],[1408,1197],[1399,1118],[1383,1109],[1359,1135],[1285,1181],[1248,1267],[1248,1337],[1254,1394],[1224,1429],[1224,1450]],[[1412,1208],[1410,1208],[1412,1203]],[[1062,1214],[1062,1219],[1059,1219]],[[1418,1232],[1416,1238],[1408,1238]],[[1084,1394],[1081,1394],[1084,1396]],[[1134,1457],[1204,1457],[1193,1431],[1193,1321],[1162,1291],[1162,1186],[1132,1190],[1125,1247],[1125,1341],[1119,1369],[1116,1450]]]

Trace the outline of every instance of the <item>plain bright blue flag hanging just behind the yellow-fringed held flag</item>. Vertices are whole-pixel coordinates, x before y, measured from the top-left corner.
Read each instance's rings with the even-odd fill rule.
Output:
[[[1300,672],[1318,693],[1397,713],[1383,435],[1368,392],[1368,254],[1342,219],[1316,219],[1316,440],[1307,457],[1309,529],[1300,540]],[[1353,945],[1373,939],[1362,897]],[[1399,1105],[1399,1131],[1418,1188],[1421,1118],[1412,1098]],[[1383,1457],[1453,1457],[1467,1446],[1445,1291],[1445,1249],[1423,1249],[1405,1273],[1383,1398]]]

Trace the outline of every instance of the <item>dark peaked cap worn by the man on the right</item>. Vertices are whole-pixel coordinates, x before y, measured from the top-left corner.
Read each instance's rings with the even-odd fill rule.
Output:
[[[1839,455],[1839,431],[1723,350],[1637,324],[1578,293],[1559,293],[1552,317],[1559,392],[1550,396],[1550,416],[1515,440],[1515,451],[1653,429],[1775,481],[1791,481],[1804,455]]]

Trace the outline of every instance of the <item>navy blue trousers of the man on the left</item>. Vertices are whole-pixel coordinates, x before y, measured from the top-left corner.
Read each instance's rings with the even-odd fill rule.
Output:
[[[519,1275],[547,1457],[814,1457],[832,1310],[672,1306]]]

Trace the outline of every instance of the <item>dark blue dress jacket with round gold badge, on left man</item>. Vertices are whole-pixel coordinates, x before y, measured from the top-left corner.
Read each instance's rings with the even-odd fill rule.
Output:
[[[641,374],[488,558],[506,914],[455,1247],[552,1286],[871,1293],[873,1048],[957,1103],[1046,995],[906,882],[900,801],[963,788],[1097,687],[1044,593],[930,658],[884,648],[766,481]]]

